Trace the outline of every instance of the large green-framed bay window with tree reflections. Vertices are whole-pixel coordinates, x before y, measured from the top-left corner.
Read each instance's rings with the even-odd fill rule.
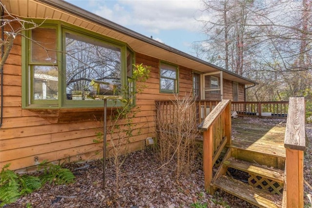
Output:
[[[134,62],[125,43],[45,23],[24,39],[23,107],[100,107],[103,97],[120,95]]]

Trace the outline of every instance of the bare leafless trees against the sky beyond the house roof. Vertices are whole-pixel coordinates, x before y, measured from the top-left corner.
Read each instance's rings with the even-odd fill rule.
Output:
[[[215,56],[208,60],[263,83],[262,89],[250,89],[252,100],[307,94],[312,70],[311,0],[203,2],[203,12],[211,17],[203,21],[208,54]]]

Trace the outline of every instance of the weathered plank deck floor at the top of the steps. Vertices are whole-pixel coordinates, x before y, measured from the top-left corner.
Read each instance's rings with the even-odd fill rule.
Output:
[[[285,123],[286,120],[246,117],[232,119],[233,156],[283,169],[286,158]]]

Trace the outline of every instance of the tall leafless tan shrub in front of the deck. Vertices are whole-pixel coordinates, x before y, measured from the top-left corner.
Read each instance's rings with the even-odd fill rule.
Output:
[[[184,95],[171,104],[156,106],[157,144],[158,153],[165,171],[168,164],[175,162],[176,178],[181,174],[189,174],[194,165],[196,150],[195,100],[191,95]]]

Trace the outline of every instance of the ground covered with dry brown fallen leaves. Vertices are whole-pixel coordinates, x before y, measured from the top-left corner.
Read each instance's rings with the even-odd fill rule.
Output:
[[[251,119],[247,122],[259,125],[285,125],[286,120]],[[312,125],[306,125],[311,144]],[[235,132],[233,132],[235,133]],[[305,155],[304,177],[305,206],[310,207],[307,194],[312,194],[312,150],[308,146]],[[223,191],[209,195],[204,191],[203,171],[198,168],[189,176],[176,180],[174,168],[166,171],[160,167],[156,154],[151,150],[138,151],[128,155],[119,178],[120,189],[115,193],[114,166],[107,164],[106,188],[102,189],[102,161],[67,164],[74,172],[76,182],[69,185],[45,185],[41,189],[21,197],[7,208],[254,208]],[[171,164],[169,167],[174,166]]]

